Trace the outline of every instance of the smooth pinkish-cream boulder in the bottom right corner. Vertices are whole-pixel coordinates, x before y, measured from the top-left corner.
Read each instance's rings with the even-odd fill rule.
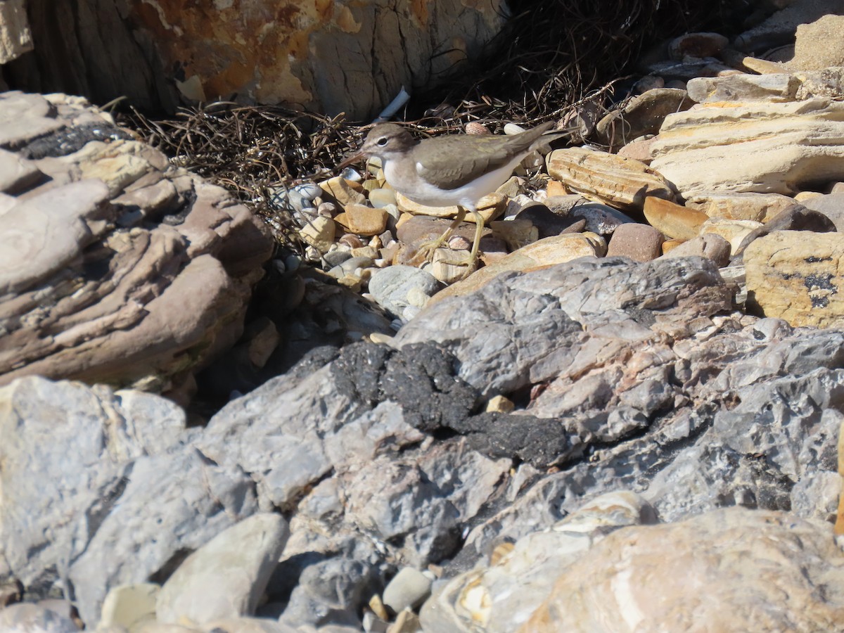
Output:
[[[616,530],[565,567],[518,631],[820,633],[841,622],[844,555],[831,526],[728,508]]]

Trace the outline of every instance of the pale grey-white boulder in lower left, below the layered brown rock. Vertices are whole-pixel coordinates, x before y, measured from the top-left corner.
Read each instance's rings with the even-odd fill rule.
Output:
[[[28,377],[0,403],[0,579],[35,597],[64,587],[89,625],[111,587],[257,510],[251,481],[189,446],[168,400]]]

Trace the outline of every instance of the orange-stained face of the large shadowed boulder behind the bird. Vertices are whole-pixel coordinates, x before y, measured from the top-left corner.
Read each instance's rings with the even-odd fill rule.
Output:
[[[376,114],[403,85],[429,85],[472,57],[506,15],[500,0],[391,5],[129,0],[128,5],[136,36],[151,42],[165,80],[175,81],[188,100],[236,95],[330,115],[345,112],[353,120]]]

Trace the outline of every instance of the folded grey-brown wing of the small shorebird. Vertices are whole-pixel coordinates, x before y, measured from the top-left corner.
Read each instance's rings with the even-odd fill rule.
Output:
[[[423,148],[428,145],[436,147],[437,151],[428,154],[424,164],[416,160],[416,171],[420,177],[436,182],[443,189],[463,187],[484,173],[510,163],[513,156],[527,151],[553,125],[553,122],[544,123],[517,136],[460,135],[426,139],[416,146],[414,154],[427,151]]]

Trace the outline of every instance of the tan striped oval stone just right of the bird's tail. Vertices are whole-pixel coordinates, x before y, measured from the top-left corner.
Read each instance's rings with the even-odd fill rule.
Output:
[[[649,196],[674,200],[657,170],[638,160],[590,149],[557,149],[546,159],[548,173],[572,192],[622,209],[641,209]]]

